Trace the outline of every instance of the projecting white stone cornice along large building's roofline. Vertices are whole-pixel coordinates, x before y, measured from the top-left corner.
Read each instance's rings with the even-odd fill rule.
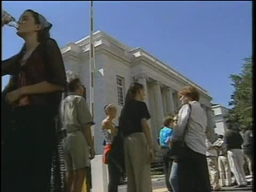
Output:
[[[143,65],[144,61],[150,66],[152,69],[158,69],[161,73],[167,75],[172,79],[175,79],[179,84],[190,84],[195,86],[204,96],[208,99],[212,100],[212,97],[208,95],[207,90],[201,88],[201,86],[195,84],[190,81],[182,74],[177,73],[174,69],[167,66],[165,63],[156,59],[153,55],[148,54],[141,48],[131,49],[125,44],[121,44],[115,38],[112,38],[108,34],[102,31],[97,31],[93,34],[94,44],[96,47],[96,51],[104,51],[108,55],[114,55],[119,60],[125,61],[125,65],[134,67],[136,65]],[[61,48],[61,53],[63,57],[73,56],[75,57],[84,57],[87,55],[87,52],[90,50],[90,36],[83,38],[76,43],[68,43],[66,46]],[[131,63],[131,64],[130,64]]]

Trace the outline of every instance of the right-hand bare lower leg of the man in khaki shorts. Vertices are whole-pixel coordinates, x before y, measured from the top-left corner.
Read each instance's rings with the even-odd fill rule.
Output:
[[[74,171],[73,185],[71,192],[81,192],[85,179],[85,168]]]

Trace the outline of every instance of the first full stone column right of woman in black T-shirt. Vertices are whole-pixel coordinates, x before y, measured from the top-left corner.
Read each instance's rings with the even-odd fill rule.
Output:
[[[160,128],[163,126],[163,118],[164,118],[164,110],[163,110],[163,102],[161,96],[160,82],[154,82],[153,84],[153,92],[154,92],[154,110],[156,115],[156,127],[158,134]]]

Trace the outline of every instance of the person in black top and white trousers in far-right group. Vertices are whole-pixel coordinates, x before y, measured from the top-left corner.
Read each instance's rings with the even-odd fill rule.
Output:
[[[236,128],[230,129],[229,127],[224,135],[224,143],[227,145],[231,172],[233,172],[236,178],[236,183],[238,183],[236,188],[246,187],[247,180],[243,169],[244,156],[241,149],[243,143],[241,134]]]

